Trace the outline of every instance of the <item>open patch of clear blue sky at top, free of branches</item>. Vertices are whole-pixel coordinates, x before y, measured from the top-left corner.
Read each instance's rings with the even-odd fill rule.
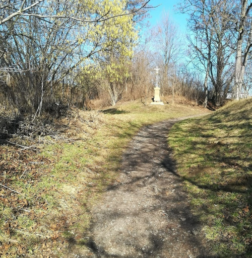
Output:
[[[151,0],[149,3],[150,5],[160,6],[150,10],[150,25],[153,26],[158,21],[160,21],[162,13],[163,11],[165,11],[166,13],[169,13],[174,23],[177,24],[177,26],[179,27],[180,31],[185,32],[187,15],[179,14],[175,11],[175,7],[178,5],[179,2],[181,2],[181,0]]]

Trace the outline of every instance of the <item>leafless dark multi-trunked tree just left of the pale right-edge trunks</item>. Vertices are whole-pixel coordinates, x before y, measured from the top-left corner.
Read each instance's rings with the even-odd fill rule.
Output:
[[[232,3],[231,3],[232,2]],[[193,59],[204,67],[205,98],[208,101],[208,78],[214,86],[212,101],[220,106],[221,97],[225,97],[224,89],[229,88],[232,80],[233,36],[231,33],[231,14],[235,10],[235,2],[226,0],[191,0],[180,4],[180,12],[190,15],[188,25],[193,35],[188,37],[193,47]]]

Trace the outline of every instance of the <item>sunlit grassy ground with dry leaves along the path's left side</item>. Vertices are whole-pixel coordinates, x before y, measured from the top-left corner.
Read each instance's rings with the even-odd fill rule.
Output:
[[[0,145],[0,256],[70,257],[84,248],[89,208],[116,180],[121,152],[139,128],[204,112],[184,100],[164,106],[136,101],[75,110],[37,127],[20,123],[27,134],[11,133]],[[38,134],[51,126],[53,132]]]

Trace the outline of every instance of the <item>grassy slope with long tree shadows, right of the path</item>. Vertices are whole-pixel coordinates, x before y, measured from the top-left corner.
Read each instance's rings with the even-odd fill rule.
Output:
[[[177,173],[218,257],[252,257],[252,99],[173,126]]]

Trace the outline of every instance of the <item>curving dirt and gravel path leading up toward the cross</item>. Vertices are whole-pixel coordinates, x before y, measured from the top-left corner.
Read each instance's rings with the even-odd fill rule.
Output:
[[[89,257],[213,257],[167,146],[181,119],[144,127],[131,141],[117,183],[91,211]]]

